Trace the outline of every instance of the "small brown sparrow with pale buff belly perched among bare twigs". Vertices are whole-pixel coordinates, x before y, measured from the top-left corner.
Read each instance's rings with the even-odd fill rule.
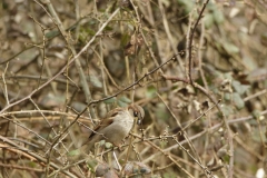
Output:
[[[116,108],[108,112],[107,117],[93,128],[83,147],[91,150],[95,148],[95,144],[100,140],[119,146],[130,134],[135,121],[141,125],[144,117],[145,111],[138,105],[130,105],[127,108]]]

